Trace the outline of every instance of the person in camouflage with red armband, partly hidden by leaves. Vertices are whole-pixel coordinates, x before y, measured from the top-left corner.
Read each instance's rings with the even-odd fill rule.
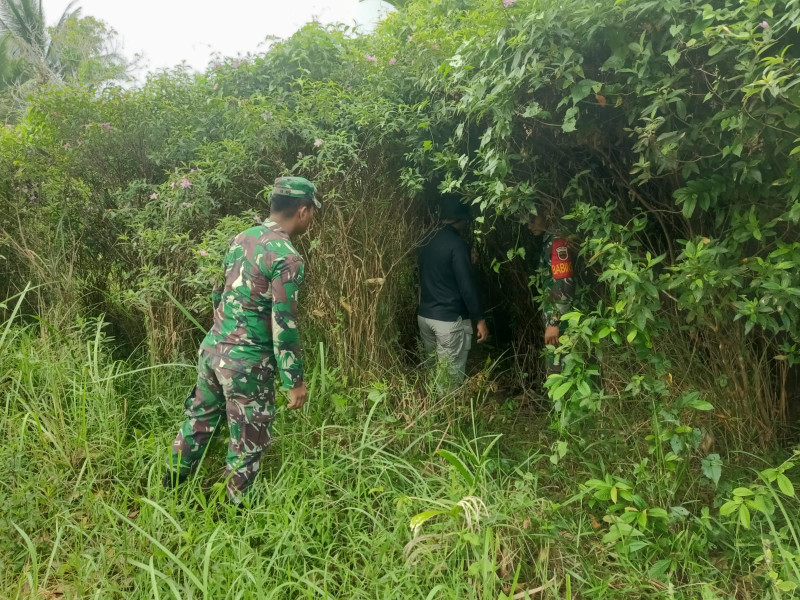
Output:
[[[572,310],[575,298],[575,272],[573,250],[566,237],[552,233],[549,214],[537,214],[528,222],[528,229],[540,238],[541,251],[537,272],[538,288],[542,298],[542,317],[544,320],[544,343],[547,375],[561,372],[558,355],[549,347],[559,344],[559,337],[566,329],[561,315]]]

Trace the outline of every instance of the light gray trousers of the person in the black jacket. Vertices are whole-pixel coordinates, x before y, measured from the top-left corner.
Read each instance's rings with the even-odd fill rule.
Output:
[[[439,358],[450,376],[451,385],[459,385],[466,377],[467,355],[472,348],[472,321],[437,321],[417,316],[422,347],[431,365]]]

